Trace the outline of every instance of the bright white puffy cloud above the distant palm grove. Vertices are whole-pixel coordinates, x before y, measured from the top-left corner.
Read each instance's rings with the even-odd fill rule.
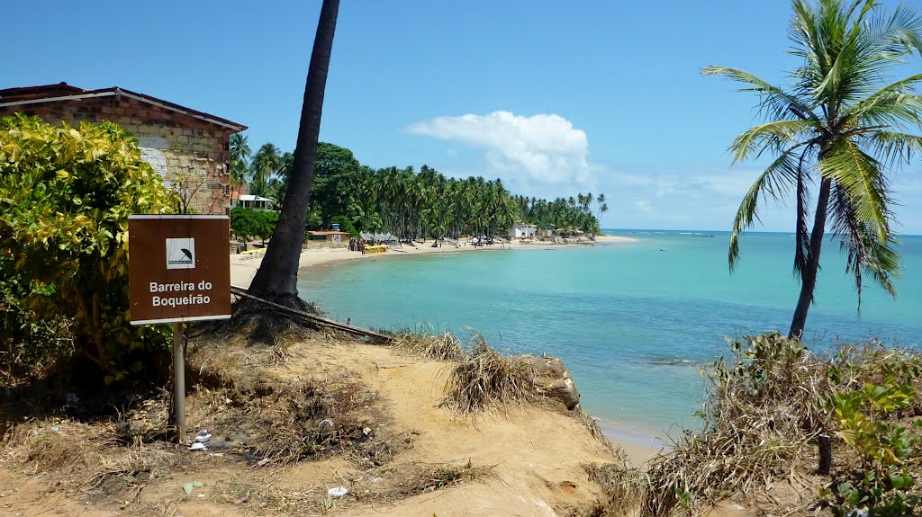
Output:
[[[494,111],[437,117],[412,124],[408,131],[484,149],[490,166],[507,178],[561,184],[585,183],[590,177],[585,132],[559,115]]]

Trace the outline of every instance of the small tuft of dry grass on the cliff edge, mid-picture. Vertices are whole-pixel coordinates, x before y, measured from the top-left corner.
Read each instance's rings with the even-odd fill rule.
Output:
[[[521,406],[535,392],[535,368],[507,357],[475,336],[471,353],[458,362],[445,383],[442,405],[461,415],[508,404]]]

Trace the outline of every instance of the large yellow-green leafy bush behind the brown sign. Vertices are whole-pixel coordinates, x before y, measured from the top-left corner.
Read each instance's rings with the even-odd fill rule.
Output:
[[[126,366],[132,352],[164,346],[169,329],[129,324],[128,215],[168,213],[175,200],[135,138],[109,122],[4,118],[0,171],[0,279],[30,314],[72,321],[77,352],[107,381],[140,370]]]

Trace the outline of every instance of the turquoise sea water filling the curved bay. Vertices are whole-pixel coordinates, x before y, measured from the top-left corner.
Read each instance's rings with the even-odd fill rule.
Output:
[[[372,258],[301,270],[299,290],[328,316],[376,328],[471,328],[504,352],[549,353],[570,368],[583,407],[642,435],[694,425],[703,364],[725,337],[786,332],[797,302],[789,234],[607,230],[631,243]],[[860,316],[838,243],[827,242],[805,339],[922,343],[922,236],[904,236],[894,300],[865,289]]]

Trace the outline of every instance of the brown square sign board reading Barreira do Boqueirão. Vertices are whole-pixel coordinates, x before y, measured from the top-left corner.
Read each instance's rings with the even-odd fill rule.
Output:
[[[226,215],[128,217],[131,324],[231,317]]]

